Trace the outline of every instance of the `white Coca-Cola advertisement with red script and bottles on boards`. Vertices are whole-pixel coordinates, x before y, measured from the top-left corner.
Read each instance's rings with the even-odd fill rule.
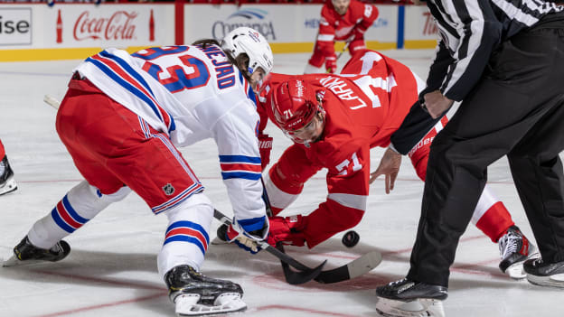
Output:
[[[57,46],[155,45],[158,9],[149,6],[65,6],[53,14]]]

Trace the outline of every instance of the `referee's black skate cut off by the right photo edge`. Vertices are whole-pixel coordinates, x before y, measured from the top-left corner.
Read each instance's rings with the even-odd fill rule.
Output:
[[[523,269],[531,284],[564,288],[564,261],[544,263],[541,258],[525,261]]]

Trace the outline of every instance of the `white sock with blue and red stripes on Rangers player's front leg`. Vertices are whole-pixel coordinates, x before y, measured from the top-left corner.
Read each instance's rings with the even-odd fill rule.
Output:
[[[197,193],[164,213],[168,228],[157,259],[159,274],[164,277],[174,266],[181,265],[199,270],[210,244],[211,201]]]

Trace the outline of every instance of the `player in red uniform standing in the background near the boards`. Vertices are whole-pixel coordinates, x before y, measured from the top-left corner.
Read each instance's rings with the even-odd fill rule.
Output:
[[[348,42],[351,55],[366,50],[364,33],[377,17],[378,9],[374,5],[358,0],[327,1],[321,9],[314,54],[307,62],[305,73],[334,73],[337,70],[335,41]],[[325,70],[322,70],[324,63]]]

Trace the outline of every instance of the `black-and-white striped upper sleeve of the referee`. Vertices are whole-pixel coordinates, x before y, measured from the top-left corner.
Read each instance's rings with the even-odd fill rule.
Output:
[[[502,23],[496,19],[491,5],[490,0],[428,2],[441,36],[429,79],[442,78],[440,90],[447,98],[460,101],[466,97],[501,42]],[[446,51],[450,56],[446,56]],[[450,64],[445,72],[446,59]]]

